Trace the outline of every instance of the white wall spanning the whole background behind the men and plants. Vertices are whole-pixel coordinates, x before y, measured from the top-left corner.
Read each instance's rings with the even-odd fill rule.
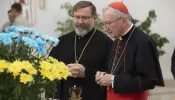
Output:
[[[64,2],[75,4],[79,0],[46,0],[46,8],[39,8],[39,0],[35,0],[35,25],[38,31],[58,37],[55,32],[58,20],[65,20],[68,16],[60,5]],[[112,1],[120,0],[91,0],[97,7],[98,13]],[[170,43],[164,46],[166,54],[160,57],[163,76],[165,79],[172,79],[170,72],[171,55],[175,46],[175,0],[123,0],[128,6],[130,14],[141,21],[145,20],[148,11],[154,9],[157,14],[157,21],[152,25],[153,32],[160,33],[169,39]],[[7,11],[10,8],[10,0],[0,0],[0,27],[7,20]]]

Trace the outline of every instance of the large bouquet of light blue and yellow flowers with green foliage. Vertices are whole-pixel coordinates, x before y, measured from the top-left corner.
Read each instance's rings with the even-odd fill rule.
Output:
[[[48,57],[58,42],[23,26],[0,33],[0,100],[41,100],[44,92],[54,97],[57,82],[70,75],[63,62]]]

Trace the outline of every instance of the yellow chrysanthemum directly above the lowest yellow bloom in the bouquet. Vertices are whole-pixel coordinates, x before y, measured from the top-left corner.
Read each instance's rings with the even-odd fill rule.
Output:
[[[23,69],[26,70],[30,75],[36,75],[37,70],[32,66],[29,61],[22,61]]]

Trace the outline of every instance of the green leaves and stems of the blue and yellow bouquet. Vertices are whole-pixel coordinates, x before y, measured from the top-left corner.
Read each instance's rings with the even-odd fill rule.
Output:
[[[39,69],[40,58],[32,55],[33,48],[24,43],[12,43],[12,45],[1,45],[0,60],[5,59],[9,62],[15,60],[26,60],[33,62]],[[34,82],[23,84],[20,82],[20,76],[14,78],[11,73],[0,73],[0,100],[41,100],[41,93],[44,93],[45,87],[56,88],[55,81],[43,80],[40,75],[33,76]],[[50,91],[50,90],[49,90]],[[55,91],[50,91],[52,94]]]

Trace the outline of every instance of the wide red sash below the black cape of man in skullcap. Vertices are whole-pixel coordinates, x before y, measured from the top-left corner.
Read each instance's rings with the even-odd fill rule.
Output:
[[[139,93],[116,94],[114,89],[109,87],[107,91],[107,100],[147,100],[148,90]]]

